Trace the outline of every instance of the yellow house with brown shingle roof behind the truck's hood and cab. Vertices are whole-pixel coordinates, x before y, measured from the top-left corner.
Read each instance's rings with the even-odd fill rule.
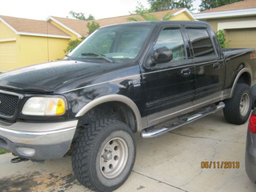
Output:
[[[153,12],[159,19],[195,20],[187,9]],[[140,15],[132,15],[140,17]],[[95,20],[101,27],[127,22],[131,15]],[[142,19],[142,17],[141,17]],[[65,57],[70,40],[88,35],[88,21],[49,16],[34,20],[0,15],[0,71],[52,61]]]

